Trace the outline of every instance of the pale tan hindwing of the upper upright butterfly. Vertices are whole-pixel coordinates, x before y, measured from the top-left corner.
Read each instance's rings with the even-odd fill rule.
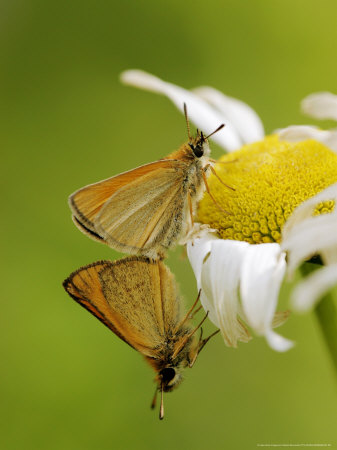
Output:
[[[112,247],[136,253],[179,232],[187,201],[183,182],[188,165],[169,164],[119,189],[97,215],[95,230]]]

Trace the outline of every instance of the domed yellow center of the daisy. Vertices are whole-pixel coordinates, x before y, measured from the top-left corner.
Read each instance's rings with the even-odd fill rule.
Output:
[[[304,200],[337,182],[337,155],[314,140],[279,141],[276,135],[245,145],[220,158],[208,184],[221,211],[205,194],[198,219],[219,230],[223,239],[251,244],[280,242],[282,226]],[[333,201],[322,202],[315,214],[330,212]]]

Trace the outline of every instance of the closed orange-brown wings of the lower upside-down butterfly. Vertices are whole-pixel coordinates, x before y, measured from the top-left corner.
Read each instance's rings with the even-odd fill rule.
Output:
[[[100,261],[72,273],[68,294],[148,358],[165,346],[179,320],[173,275],[162,262],[131,257]]]

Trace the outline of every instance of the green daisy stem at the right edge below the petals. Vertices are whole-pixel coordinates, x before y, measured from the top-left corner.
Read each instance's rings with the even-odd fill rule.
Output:
[[[301,272],[308,275],[319,267],[318,264],[305,263]],[[321,298],[315,308],[315,314],[337,374],[337,309],[331,292]]]

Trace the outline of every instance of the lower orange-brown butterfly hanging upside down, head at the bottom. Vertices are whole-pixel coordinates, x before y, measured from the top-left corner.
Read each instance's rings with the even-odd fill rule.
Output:
[[[207,317],[196,328],[189,323],[199,296],[183,316],[168,267],[162,261],[137,256],[89,264],[72,273],[63,286],[74,300],[140,352],[156,371],[162,419],[163,392],[179,385],[183,369],[193,366],[207,341],[219,331],[202,339],[201,330],[200,338],[196,338],[195,332]]]

